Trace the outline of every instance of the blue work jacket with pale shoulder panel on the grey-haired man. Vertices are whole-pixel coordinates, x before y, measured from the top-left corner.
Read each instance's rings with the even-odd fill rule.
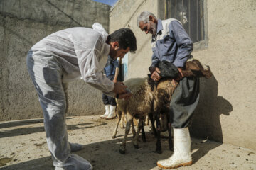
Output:
[[[152,65],[158,67],[159,61],[172,62],[183,67],[193,51],[193,42],[186,30],[176,19],[158,19],[156,35],[152,36]]]

